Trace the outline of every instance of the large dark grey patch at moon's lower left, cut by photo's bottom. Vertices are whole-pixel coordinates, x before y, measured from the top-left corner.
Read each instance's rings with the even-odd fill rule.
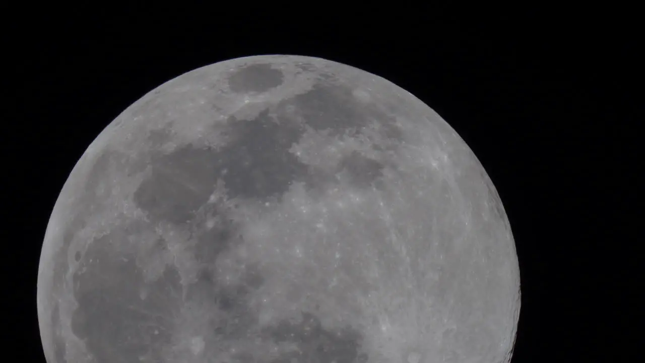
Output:
[[[111,248],[120,238],[110,233],[88,245],[74,273],[79,307],[72,316],[72,331],[97,363],[159,361],[159,347],[170,342],[172,304],[181,295],[179,275],[167,268],[161,278],[146,282],[135,256]],[[144,286],[148,296],[141,298]]]

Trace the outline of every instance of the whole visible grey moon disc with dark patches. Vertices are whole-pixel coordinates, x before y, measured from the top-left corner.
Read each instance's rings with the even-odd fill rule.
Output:
[[[152,90],[55,203],[49,363],[508,362],[504,208],[432,109],[368,72],[254,56]]]

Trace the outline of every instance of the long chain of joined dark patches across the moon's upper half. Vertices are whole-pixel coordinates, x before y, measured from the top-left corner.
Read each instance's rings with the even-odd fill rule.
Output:
[[[279,200],[294,181],[309,187],[319,186],[320,180],[333,182],[337,172],[346,172],[356,187],[370,186],[381,176],[381,161],[352,152],[332,175],[320,178],[289,151],[303,135],[304,125],[339,137],[344,132],[360,133],[372,119],[392,124],[386,114],[375,109],[365,112],[361,105],[347,101],[348,93],[351,97],[345,87],[315,87],[283,101],[295,107],[299,115],[295,119],[285,111],[286,104],[278,105],[275,119],[268,109],[253,119],[231,117],[226,133],[232,141],[226,145],[217,149],[184,145],[153,156],[150,174],[135,192],[134,202],[155,220],[182,224],[206,203],[217,180],[224,182],[228,198],[261,201]]]

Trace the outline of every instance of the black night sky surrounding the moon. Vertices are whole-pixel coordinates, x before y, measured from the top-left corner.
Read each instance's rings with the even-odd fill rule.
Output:
[[[19,361],[45,361],[39,254],[58,192],[86,147],[157,85],[255,54],[323,57],[378,74],[468,143],[499,191],[517,245],[522,309],[513,363],[620,362],[642,340],[628,309],[642,287],[642,238],[628,231],[637,227],[642,187],[633,178],[643,169],[635,58],[642,42],[630,11],[473,23],[415,9],[204,10],[199,19],[187,15],[196,10],[138,10],[101,19],[78,8],[26,12],[5,32],[5,57],[15,61],[5,68],[10,116],[2,136],[10,183],[5,296],[14,304],[5,313]]]

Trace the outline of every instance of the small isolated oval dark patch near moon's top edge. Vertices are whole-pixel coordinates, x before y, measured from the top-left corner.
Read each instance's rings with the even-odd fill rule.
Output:
[[[284,75],[269,64],[248,65],[235,71],[228,78],[228,87],[233,92],[266,92],[283,83]]]

